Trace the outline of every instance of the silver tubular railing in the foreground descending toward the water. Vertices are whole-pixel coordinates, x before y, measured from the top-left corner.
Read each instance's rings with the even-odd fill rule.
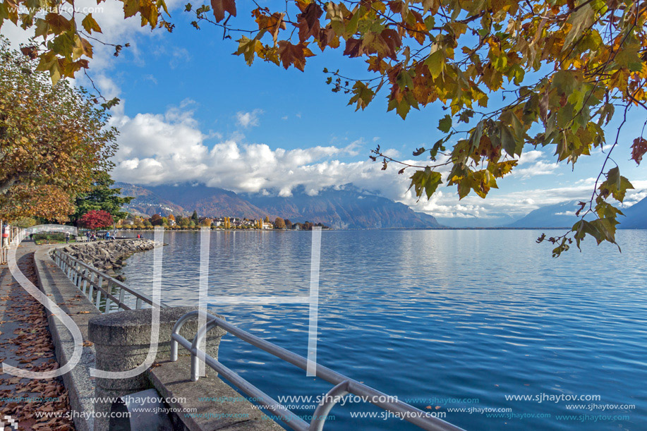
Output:
[[[197,318],[200,315],[200,311],[188,312],[186,315],[180,317],[176,322],[173,332],[171,333],[171,361],[178,360],[178,344],[186,348],[191,353],[191,380],[194,382],[198,380],[200,360],[203,360],[207,365],[210,366],[213,370],[219,372],[222,377],[226,380],[229,380],[231,384],[234,384],[235,387],[243,391],[248,396],[252,397],[258,403],[266,408],[268,411],[272,412],[277,417],[284,420],[284,423],[293,430],[297,431],[322,431],[325,420],[329,411],[334,407],[334,405],[341,401],[341,398],[347,394],[354,394],[356,396],[361,396],[363,399],[366,399],[368,402],[374,404],[377,407],[382,408],[385,411],[390,411],[394,413],[395,416],[402,418],[404,420],[413,423],[421,427],[423,430],[429,431],[461,431],[462,429],[445,422],[440,418],[435,418],[430,413],[421,411],[420,409],[411,406],[410,404],[398,401],[394,396],[389,396],[383,392],[377,391],[372,387],[366,386],[363,383],[360,383],[356,380],[353,380],[349,377],[339,374],[326,368],[322,365],[317,365],[316,367],[316,376],[321,379],[334,384],[335,386],[328,391],[326,396],[322,399],[319,406],[316,408],[315,413],[313,413],[313,419],[310,423],[307,423],[305,420],[299,418],[297,415],[289,411],[282,403],[275,401],[265,392],[255,387],[253,384],[243,379],[233,370],[230,370],[225,365],[222,365],[217,359],[212,358],[207,355],[205,351],[200,350],[198,346],[202,345],[205,342],[207,332],[210,329],[215,327],[220,327],[224,329],[229,334],[232,334],[239,339],[246,341],[247,343],[261,348],[262,350],[270,353],[277,358],[285,360],[286,362],[296,365],[298,368],[303,370],[307,369],[308,360],[299,356],[296,353],[292,353],[282,347],[277,346],[276,344],[270,343],[264,339],[259,338],[258,336],[252,335],[249,332],[243,331],[233,324],[230,324],[219,317],[205,313],[207,315],[207,324],[200,327],[198,332],[195,334],[193,341],[188,341],[183,336],[179,334],[180,329],[183,324],[188,320]]]

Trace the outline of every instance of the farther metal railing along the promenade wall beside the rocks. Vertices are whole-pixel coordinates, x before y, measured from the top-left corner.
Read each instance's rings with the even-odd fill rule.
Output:
[[[144,308],[144,304],[153,305],[150,296],[100,272],[99,269],[72,257],[61,249],[54,249],[52,258],[68,279],[101,312],[111,312],[112,305],[116,308],[115,311],[140,309]],[[168,306],[165,303],[160,304],[161,308]]]

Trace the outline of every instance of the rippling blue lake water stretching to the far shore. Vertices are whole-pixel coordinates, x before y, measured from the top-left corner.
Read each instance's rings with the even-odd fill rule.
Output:
[[[318,363],[466,430],[647,430],[647,231],[619,232],[622,254],[588,239],[559,259],[540,233],[323,231]],[[311,238],[212,232],[210,294],[307,296]],[[164,301],[197,305],[199,233],[164,241]],[[151,263],[131,257],[127,283],[150,292]],[[211,307],[306,356],[308,305]],[[219,358],[275,399],[331,387],[231,336]],[[330,429],[417,429],[356,411],[379,410],[335,406]]]

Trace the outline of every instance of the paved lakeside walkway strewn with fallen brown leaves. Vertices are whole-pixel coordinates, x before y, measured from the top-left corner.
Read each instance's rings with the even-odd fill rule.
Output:
[[[18,268],[33,284],[34,243],[18,248]],[[33,371],[58,368],[44,307],[0,265],[0,362]],[[20,430],[74,430],[68,418],[38,417],[39,413],[70,411],[68,394],[60,379],[31,380],[3,374],[0,369],[0,413],[18,420]]]

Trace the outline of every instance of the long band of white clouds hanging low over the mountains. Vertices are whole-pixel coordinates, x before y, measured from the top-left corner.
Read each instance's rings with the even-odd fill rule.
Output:
[[[219,133],[204,133],[193,109],[193,102],[187,99],[164,114],[116,116],[113,121],[121,136],[119,152],[114,158],[114,177],[126,183],[151,186],[193,182],[237,193],[282,197],[291,196],[301,186],[309,195],[316,195],[329,187],[353,183],[416,211],[466,220],[521,216],[542,205],[581,199],[591,193],[594,184],[593,178],[586,178],[563,187],[495,191],[486,200],[473,195],[458,200],[454,188],[440,188],[431,200],[418,201],[408,190],[410,174],[397,175],[393,167],[382,171],[381,164],[364,158],[369,147],[363,140],[346,146],[273,148],[265,143],[246,142],[240,131],[227,138]],[[257,126],[262,121],[262,111],[238,112],[233,118],[241,128]],[[558,169],[560,166],[543,152],[529,150],[521,156],[514,174],[500,180],[500,186],[557,174]],[[443,171],[444,176],[446,173]],[[637,181],[635,186],[642,190],[647,182]],[[629,202],[641,198],[640,193],[634,194],[635,199],[629,195]]]

